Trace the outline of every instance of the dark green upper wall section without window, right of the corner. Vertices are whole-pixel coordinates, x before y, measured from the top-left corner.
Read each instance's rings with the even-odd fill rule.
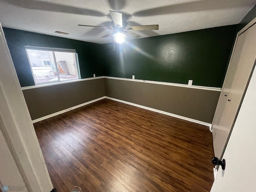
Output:
[[[161,27],[161,26],[160,26]],[[106,76],[221,87],[237,25],[104,44]]]

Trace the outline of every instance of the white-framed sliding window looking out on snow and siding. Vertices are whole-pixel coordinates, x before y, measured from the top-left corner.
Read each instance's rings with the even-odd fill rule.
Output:
[[[76,50],[25,46],[35,84],[79,78]]]

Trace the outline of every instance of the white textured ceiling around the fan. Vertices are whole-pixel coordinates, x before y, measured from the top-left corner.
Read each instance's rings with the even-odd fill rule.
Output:
[[[238,24],[255,4],[256,0],[0,0],[0,23],[103,44],[113,42],[112,36],[101,38],[110,30],[78,24],[111,26],[109,10],[121,11],[130,15],[128,25],[159,24],[158,31],[136,31],[144,38]]]

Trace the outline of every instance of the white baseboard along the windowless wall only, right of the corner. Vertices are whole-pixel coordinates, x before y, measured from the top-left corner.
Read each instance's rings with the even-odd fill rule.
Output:
[[[150,111],[162,113],[162,114],[165,114],[165,115],[168,115],[168,116],[176,117],[176,118],[179,118],[179,119],[187,120],[187,121],[194,122],[194,123],[197,123],[197,124],[205,125],[205,126],[208,126],[208,127],[212,126],[212,124],[210,124],[210,123],[206,123],[206,122],[191,119],[191,118],[188,118],[188,117],[172,114],[172,113],[169,113],[169,112],[165,112],[165,111],[161,111],[161,110],[158,110],[158,109],[146,107],[146,106],[143,106],[143,105],[138,105],[138,104],[135,104],[135,103],[131,103],[131,102],[127,102],[127,101],[124,101],[124,100],[119,100],[119,99],[115,99],[115,98],[107,97],[107,96],[106,96],[106,98],[114,100],[114,101],[122,102],[122,103],[125,103],[125,104],[133,105],[133,106],[136,106],[136,107],[140,107],[140,108],[143,108],[143,109],[147,109],[147,110],[150,110]]]

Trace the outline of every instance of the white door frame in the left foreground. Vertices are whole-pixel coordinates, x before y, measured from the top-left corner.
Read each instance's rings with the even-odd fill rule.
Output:
[[[0,129],[28,192],[50,192],[52,182],[1,24],[0,38]]]

